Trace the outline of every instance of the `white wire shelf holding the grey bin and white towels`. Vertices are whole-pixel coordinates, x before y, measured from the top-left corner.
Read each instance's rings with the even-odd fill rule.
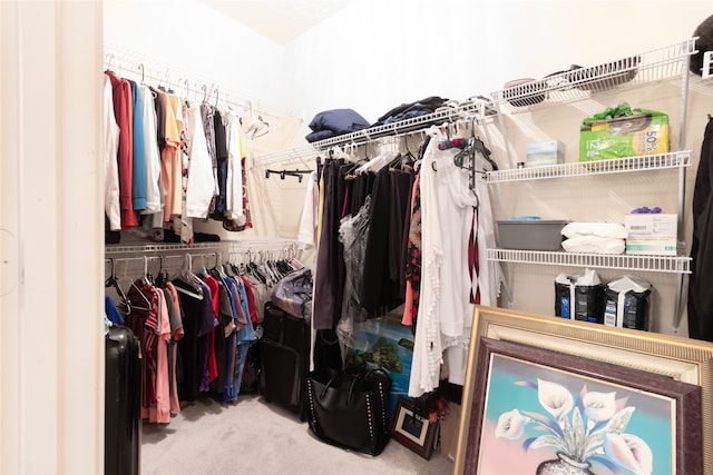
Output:
[[[691,258],[684,256],[636,256],[627,254],[580,254],[518,249],[488,249],[488,259],[501,263],[563,267],[691,274]]]

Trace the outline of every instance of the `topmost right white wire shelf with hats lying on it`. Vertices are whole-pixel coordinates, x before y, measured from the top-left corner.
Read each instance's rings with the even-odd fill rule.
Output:
[[[687,72],[688,57],[695,51],[695,38],[691,38],[604,65],[559,71],[539,80],[491,92],[490,97],[495,105],[516,110],[543,102],[586,99],[592,93],[615,87],[634,87],[681,77]]]

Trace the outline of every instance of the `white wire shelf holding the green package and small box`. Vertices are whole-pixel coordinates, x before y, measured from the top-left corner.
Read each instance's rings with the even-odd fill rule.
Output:
[[[547,178],[569,178],[588,175],[623,174],[627,171],[663,170],[682,168],[691,165],[691,150],[670,154],[646,155],[611,160],[579,161],[573,164],[550,165],[537,168],[516,168],[489,171],[486,181],[525,181]]]

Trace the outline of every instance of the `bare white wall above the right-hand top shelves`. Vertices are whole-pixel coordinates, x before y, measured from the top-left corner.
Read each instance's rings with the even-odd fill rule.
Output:
[[[712,7],[710,0],[358,0],[287,46],[292,80],[284,87],[305,123],[343,107],[373,122],[428,96],[465,100],[511,79],[685,40]]]

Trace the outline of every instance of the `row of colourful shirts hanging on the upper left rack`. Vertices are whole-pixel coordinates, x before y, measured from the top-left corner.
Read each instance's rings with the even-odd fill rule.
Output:
[[[191,244],[193,218],[251,228],[240,118],[109,70],[105,78],[108,229],[140,236],[172,229]]]

